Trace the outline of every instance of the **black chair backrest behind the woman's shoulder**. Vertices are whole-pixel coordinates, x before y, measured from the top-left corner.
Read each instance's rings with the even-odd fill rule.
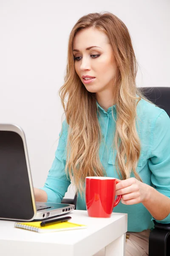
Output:
[[[170,87],[140,87],[144,96],[170,116]]]

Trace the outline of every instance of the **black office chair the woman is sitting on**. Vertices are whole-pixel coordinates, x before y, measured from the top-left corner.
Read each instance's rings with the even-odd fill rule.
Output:
[[[141,87],[144,96],[170,116],[170,87]],[[74,199],[63,199],[63,204],[74,204],[76,209],[77,195]],[[154,221],[154,229],[149,237],[149,256],[170,256],[170,224]]]

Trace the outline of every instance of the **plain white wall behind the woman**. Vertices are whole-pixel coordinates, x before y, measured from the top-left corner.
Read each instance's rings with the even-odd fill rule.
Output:
[[[36,187],[43,186],[57,148],[63,113],[57,93],[69,33],[79,17],[102,11],[130,31],[138,86],[170,86],[169,0],[0,0],[0,122],[25,131]]]

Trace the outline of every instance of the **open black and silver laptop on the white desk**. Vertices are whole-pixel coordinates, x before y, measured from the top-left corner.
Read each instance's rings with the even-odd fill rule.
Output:
[[[0,124],[0,219],[36,221],[72,210],[73,204],[35,202],[25,134]]]

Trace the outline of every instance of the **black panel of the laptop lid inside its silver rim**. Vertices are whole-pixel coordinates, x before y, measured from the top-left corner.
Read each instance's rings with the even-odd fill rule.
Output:
[[[33,216],[23,140],[16,132],[0,131],[0,218]]]

